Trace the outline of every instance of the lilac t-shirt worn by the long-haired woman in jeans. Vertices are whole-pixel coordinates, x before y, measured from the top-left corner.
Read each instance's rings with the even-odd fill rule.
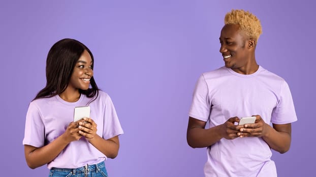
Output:
[[[114,105],[106,93],[99,91],[96,100],[81,94],[74,103],[62,100],[58,95],[42,98],[29,104],[26,114],[23,145],[43,147],[63,134],[74,119],[74,108],[90,106],[90,118],[97,124],[97,134],[109,139],[123,134]],[[71,142],[47,167],[78,168],[85,164],[97,164],[107,157],[84,137]]]

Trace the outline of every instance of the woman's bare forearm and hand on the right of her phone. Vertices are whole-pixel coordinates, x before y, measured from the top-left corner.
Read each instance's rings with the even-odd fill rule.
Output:
[[[89,123],[79,122],[79,134],[108,158],[115,158],[119,149],[118,136],[105,140],[97,134],[97,124],[92,119],[84,118],[84,120]]]

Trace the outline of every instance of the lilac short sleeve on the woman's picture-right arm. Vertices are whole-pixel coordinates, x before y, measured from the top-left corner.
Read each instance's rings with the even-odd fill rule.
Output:
[[[105,99],[103,138],[110,139],[123,134],[114,105],[109,95]]]

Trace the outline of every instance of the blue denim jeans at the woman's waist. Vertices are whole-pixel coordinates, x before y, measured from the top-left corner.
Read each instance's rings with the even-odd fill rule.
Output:
[[[55,168],[49,171],[49,177],[107,177],[108,173],[104,162],[87,165],[80,168]]]

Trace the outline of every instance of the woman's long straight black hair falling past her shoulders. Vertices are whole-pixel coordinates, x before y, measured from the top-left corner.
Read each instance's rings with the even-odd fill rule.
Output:
[[[83,43],[70,38],[57,41],[51,47],[47,55],[46,86],[36,95],[34,100],[39,98],[50,98],[64,92],[68,86],[74,67],[84,50],[91,56],[91,67],[93,69],[93,55]],[[88,98],[94,96],[97,98],[99,89],[93,76],[90,78],[90,85],[91,88],[87,90],[79,89],[79,93],[86,95]]]

